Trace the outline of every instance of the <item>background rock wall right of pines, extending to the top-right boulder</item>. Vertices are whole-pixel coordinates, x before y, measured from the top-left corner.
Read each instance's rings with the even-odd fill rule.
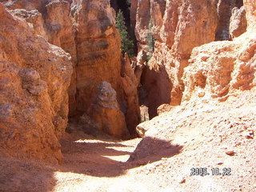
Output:
[[[241,0],[131,2],[130,20],[139,50],[137,66],[144,67],[141,83],[147,91],[150,118],[157,115],[157,108],[163,103],[177,106],[182,102],[185,90],[182,75],[194,47],[236,38],[246,32],[243,3]],[[155,38],[152,57],[147,43],[150,33]]]

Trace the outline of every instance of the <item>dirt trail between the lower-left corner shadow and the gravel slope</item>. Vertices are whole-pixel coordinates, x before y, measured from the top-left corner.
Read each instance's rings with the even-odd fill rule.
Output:
[[[118,141],[82,133],[67,135],[62,140],[65,162],[56,167],[57,182],[52,191],[157,191],[154,176],[146,179],[146,175],[142,177],[137,172],[148,162],[127,162],[141,140]],[[160,156],[156,159],[161,159]]]

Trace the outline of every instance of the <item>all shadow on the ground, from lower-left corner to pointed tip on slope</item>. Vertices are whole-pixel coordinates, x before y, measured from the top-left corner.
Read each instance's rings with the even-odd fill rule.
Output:
[[[57,172],[61,172],[58,175],[74,173],[114,178],[126,174],[126,170],[134,167],[170,158],[180,153],[181,149],[182,146],[174,146],[171,142],[154,138],[142,139],[135,150],[128,145],[99,139],[65,140],[62,141],[64,163],[58,166],[18,160],[0,153],[0,192],[54,191],[57,182],[60,182],[56,178]],[[122,158],[123,156],[126,158]],[[65,178],[62,182],[72,181],[74,175],[61,177]]]

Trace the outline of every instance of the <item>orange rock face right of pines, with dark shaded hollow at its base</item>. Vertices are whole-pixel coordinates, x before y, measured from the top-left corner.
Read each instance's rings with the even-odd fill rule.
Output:
[[[149,7],[146,14],[151,12],[156,42],[153,57],[142,74],[142,84],[148,90],[150,118],[153,118],[163,103],[181,103],[184,90],[181,78],[191,50],[214,41],[218,16],[214,3],[205,0],[140,1],[135,31],[145,52],[150,21],[150,17],[143,14],[146,7]]]

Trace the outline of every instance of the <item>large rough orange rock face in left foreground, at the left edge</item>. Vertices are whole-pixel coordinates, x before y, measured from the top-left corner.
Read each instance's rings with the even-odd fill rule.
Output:
[[[61,162],[70,54],[39,37],[0,4],[0,142],[18,158]]]

